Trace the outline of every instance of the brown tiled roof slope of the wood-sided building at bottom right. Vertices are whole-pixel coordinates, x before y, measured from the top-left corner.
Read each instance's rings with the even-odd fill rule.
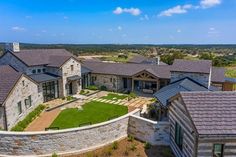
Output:
[[[236,92],[180,92],[200,135],[236,135]]]

